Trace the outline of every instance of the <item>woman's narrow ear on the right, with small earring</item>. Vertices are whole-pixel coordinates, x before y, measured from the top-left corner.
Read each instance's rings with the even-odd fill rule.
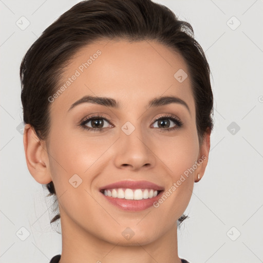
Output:
[[[207,128],[203,138],[203,143],[199,147],[199,155],[197,160],[199,164],[197,164],[197,169],[195,170],[195,182],[198,182],[202,178],[206,165],[208,164],[208,156],[210,151],[210,135],[211,129]],[[200,174],[200,179],[198,179],[198,174]]]

